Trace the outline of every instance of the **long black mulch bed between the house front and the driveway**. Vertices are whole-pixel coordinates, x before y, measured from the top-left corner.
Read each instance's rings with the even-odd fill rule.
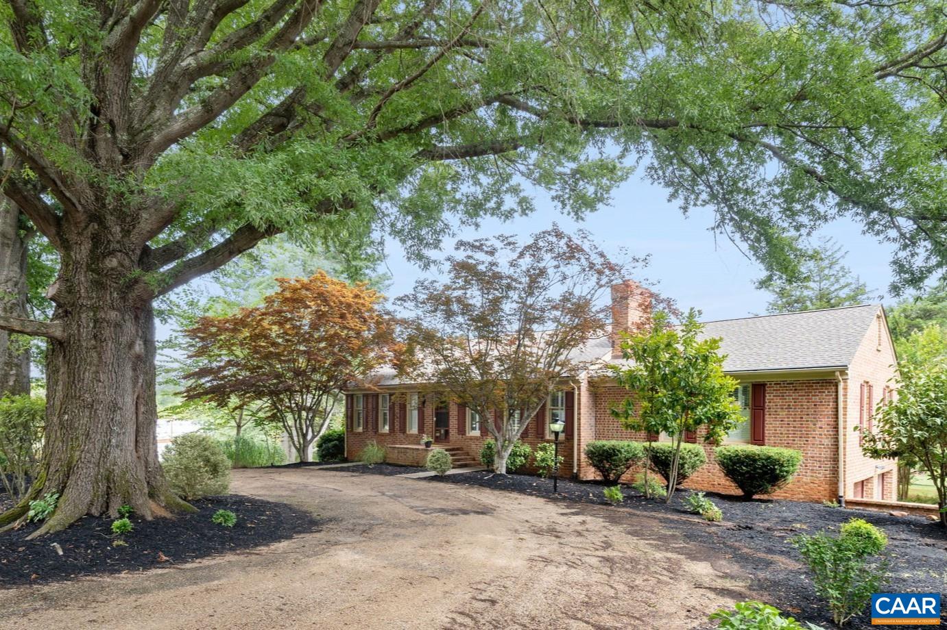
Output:
[[[470,472],[433,481],[460,483],[508,490],[538,497],[607,505],[600,483],[559,481],[559,495],[552,494],[552,481],[527,475],[492,475]],[[652,516],[664,516],[665,524],[688,541],[718,550],[721,559],[738,565],[753,582],[750,587],[764,593],[767,604],[787,611],[800,621],[831,626],[831,616],[815,595],[801,557],[790,544],[796,534],[814,534],[820,529],[837,527],[858,516],[881,527],[888,536],[887,555],[891,562],[891,580],[887,592],[936,592],[947,594],[947,533],[935,522],[922,516],[890,516],[884,512],[832,508],[820,503],[788,500],[744,501],[707,493],[724,512],[723,523],[706,523],[700,516],[688,514],[683,499],[689,491],[675,493],[670,505],[645,499],[631,488],[622,488],[624,502],[615,508],[615,523],[620,526],[622,510],[634,510]],[[647,537],[648,532],[638,531]],[[655,533],[667,542],[667,536]],[[713,562],[714,558],[706,558]],[[941,610],[947,611],[947,601]],[[708,611],[710,612],[710,611]],[[947,612],[944,613],[947,618]],[[852,621],[853,628],[871,627],[866,614]]]

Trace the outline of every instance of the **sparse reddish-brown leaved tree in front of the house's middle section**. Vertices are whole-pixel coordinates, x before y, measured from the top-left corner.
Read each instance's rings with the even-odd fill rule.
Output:
[[[478,413],[496,442],[493,469],[506,474],[549,394],[586,366],[575,351],[606,334],[601,298],[624,267],[584,231],[558,226],[525,245],[498,236],[458,241],[456,252],[441,279],[399,300],[408,313],[402,376]]]

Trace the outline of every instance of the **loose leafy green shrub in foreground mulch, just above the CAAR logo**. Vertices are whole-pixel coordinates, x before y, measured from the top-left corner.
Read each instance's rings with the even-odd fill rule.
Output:
[[[796,536],[792,542],[813,572],[815,592],[829,604],[837,625],[864,611],[871,594],[882,590],[887,565],[874,556],[884,550],[887,537],[870,523],[853,518],[837,537],[820,532]]]

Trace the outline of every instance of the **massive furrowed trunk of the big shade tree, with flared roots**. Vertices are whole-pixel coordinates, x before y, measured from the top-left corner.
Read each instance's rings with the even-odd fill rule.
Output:
[[[158,463],[152,306],[134,292],[140,289],[129,289],[136,286],[134,264],[123,264],[137,256],[110,247],[120,240],[75,238],[51,291],[53,320],[63,334],[50,341],[46,361],[40,474],[27,498],[0,516],[0,525],[13,522],[28,500],[60,493],[34,536],[87,514],[116,516],[125,504],[145,518],[189,508],[170,491]]]

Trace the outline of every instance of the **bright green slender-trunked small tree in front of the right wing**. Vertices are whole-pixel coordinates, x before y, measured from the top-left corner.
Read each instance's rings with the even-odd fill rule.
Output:
[[[616,383],[632,395],[613,415],[625,429],[670,436],[673,454],[668,470],[668,495],[677,487],[681,445],[687,433],[704,429],[704,441],[717,443],[740,421],[740,409],[731,393],[737,381],[724,375],[720,339],[701,339],[703,326],[697,311],[690,309],[680,326],[670,324],[663,312],[640,334],[626,335],[621,343],[628,365],[613,365]],[[646,445],[645,487],[651,464],[651,446]]]

